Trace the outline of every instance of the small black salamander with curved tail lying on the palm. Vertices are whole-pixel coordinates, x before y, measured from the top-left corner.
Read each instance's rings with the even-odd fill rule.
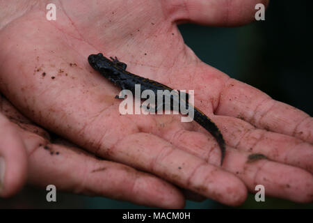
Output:
[[[145,90],[152,90],[157,95],[158,90],[168,90],[172,91],[172,89],[164,84],[159,82],[154,82],[150,79],[140,77],[138,75],[134,75],[131,72],[126,70],[127,64],[118,61],[115,57],[113,59],[107,59],[103,54],[91,54],[88,56],[88,62],[90,66],[92,66],[95,70],[99,71],[101,75],[109,79],[109,81],[113,82],[116,86],[119,86],[121,89],[127,89],[135,94],[135,84],[141,84],[141,93]],[[179,94],[180,92],[177,91]],[[188,94],[186,102],[188,106]],[[182,99],[179,100],[182,101]],[[172,108],[172,106],[171,106]],[[221,160],[220,165],[223,164],[223,159],[225,157],[225,141],[223,139],[223,135],[220,133],[220,130],[216,126],[216,124],[211,121],[209,117],[207,117],[203,112],[194,107],[194,117],[193,119],[199,123],[204,129],[210,132],[218,145],[220,146],[221,151]]]

